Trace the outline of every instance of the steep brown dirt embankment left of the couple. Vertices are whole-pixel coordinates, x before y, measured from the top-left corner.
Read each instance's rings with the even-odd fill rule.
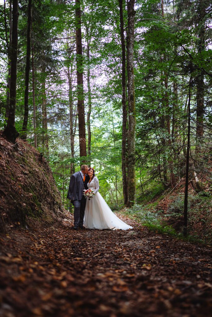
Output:
[[[63,217],[59,190],[44,157],[27,142],[0,136],[0,229]]]

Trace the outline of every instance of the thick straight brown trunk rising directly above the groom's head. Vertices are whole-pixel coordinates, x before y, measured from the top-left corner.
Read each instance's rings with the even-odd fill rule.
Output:
[[[77,61],[77,107],[79,124],[79,155],[86,156],[85,137],[85,106],[83,88],[83,55],[82,55],[82,32],[81,32],[81,7],[80,0],[75,0],[76,17],[76,61]],[[84,159],[85,162],[85,159]]]

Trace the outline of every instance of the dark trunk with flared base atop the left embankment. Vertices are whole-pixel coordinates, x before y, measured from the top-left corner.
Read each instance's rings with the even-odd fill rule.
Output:
[[[15,143],[19,133],[15,128],[16,112],[16,80],[17,80],[17,47],[18,47],[18,0],[13,0],[12,6],[12,42],[11,42],[11,72],[10,72],[10,103],[7,126],[3,136]]]

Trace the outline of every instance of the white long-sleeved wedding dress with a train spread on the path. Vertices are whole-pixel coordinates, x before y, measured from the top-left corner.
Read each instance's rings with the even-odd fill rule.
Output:
[[[133,227],[120,220],[110,209],[104,198],[99,194],[99,180],[96,176],[92,179],[88,188],[94,192],[94,196],[86,198],[84,226],[88,229],[122,229]]]

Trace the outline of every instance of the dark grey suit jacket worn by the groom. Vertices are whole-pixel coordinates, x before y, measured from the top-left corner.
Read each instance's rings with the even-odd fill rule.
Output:
[[[83,197],[83,190],[87,189],[87,183],[89,181],[89,176],[85,175],[85,188],[83,184],[83,179],[80,172],[74,173],[70,178],[69,189],[67,198],[70,200],[81,200]]]

